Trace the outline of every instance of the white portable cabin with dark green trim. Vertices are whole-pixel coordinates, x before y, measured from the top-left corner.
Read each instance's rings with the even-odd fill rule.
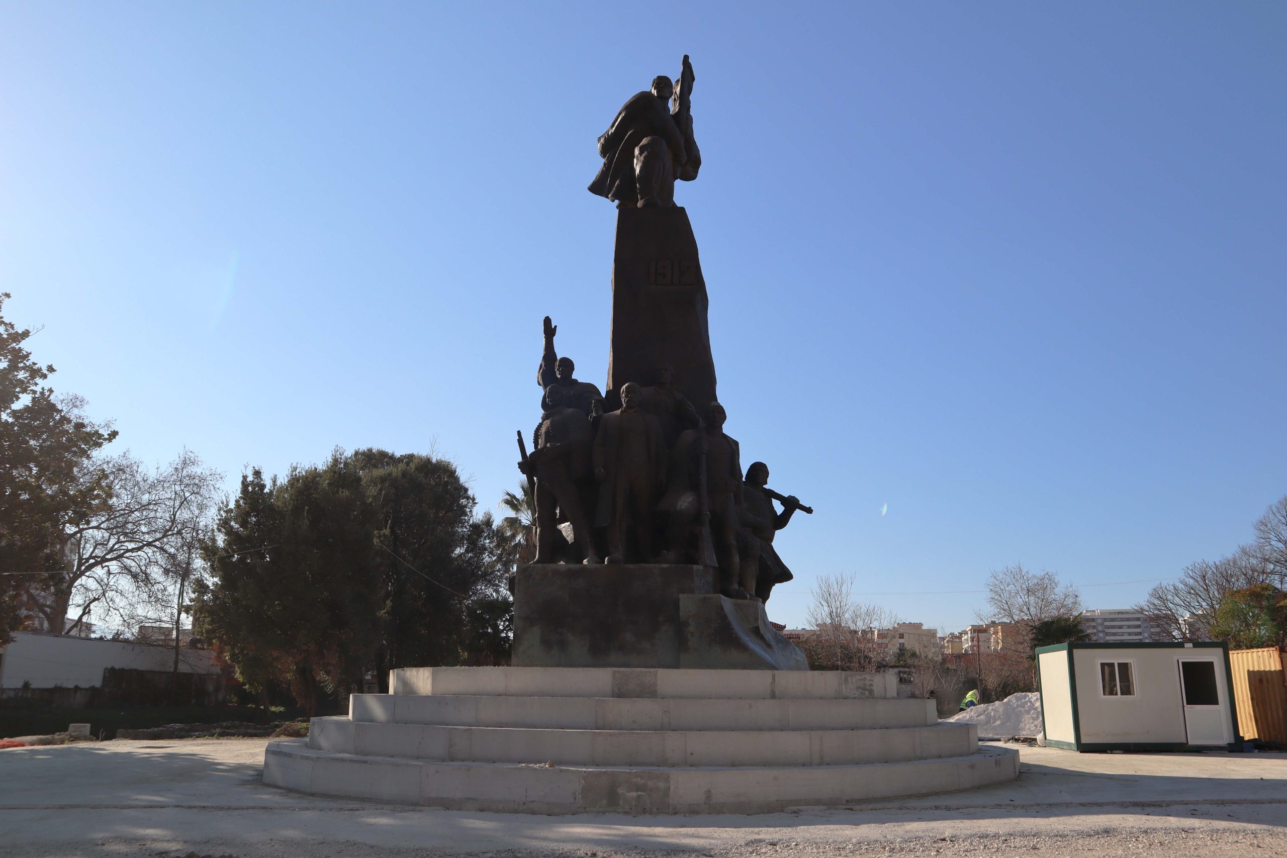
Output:
[[[1039,647],[1045,742],[1072,751],[1236,750],[1224,643],[1060,643]]]

